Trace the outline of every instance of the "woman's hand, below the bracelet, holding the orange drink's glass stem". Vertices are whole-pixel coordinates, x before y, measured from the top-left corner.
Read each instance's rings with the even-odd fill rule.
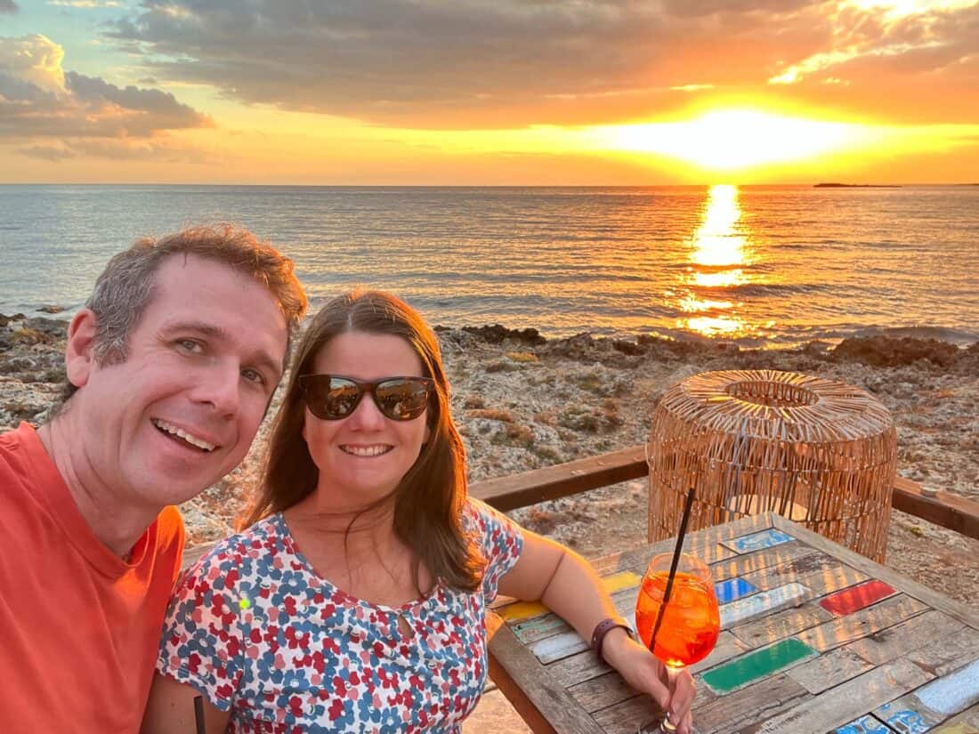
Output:
[[[622,628],[610,630],[605,635],[602,657],[619,671],[632,688],[648,693],[663,711],[670,712],[670,720],[676,724],[677,734],[690,734],[693,725],[690,707],[695,691],[689,670],[683,668],[668,675],[667,666]]]

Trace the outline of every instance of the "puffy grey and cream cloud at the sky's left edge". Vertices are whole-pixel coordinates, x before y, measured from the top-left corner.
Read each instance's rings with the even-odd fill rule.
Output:
[[[62,47],[43,35],[0,37],[0,139],[26,142],[23,155],[51,161],[165,154],[171,146],[151,139],[212,125],[172,94],[66,71],[63,59]],[[105,142],[111,139],[127,142],[114,147]]]

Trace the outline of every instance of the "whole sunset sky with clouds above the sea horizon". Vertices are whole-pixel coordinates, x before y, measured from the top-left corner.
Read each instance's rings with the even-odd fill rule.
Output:
[[[0,183],[977,171],[979,0],[0,0]]]

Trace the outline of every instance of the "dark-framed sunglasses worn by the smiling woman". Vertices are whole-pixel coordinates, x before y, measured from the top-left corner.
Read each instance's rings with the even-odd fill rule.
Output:
[[[299,385],[309,412],[324,421],[347,418],[365,392],[370,392],[378,410],[391,420],[411,421],[425,412],[435,383],[427,377],[387,377],[363,383],[339,375],[302,375]]]

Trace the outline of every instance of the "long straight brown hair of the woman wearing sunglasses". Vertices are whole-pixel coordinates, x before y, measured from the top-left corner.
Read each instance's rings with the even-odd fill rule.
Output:
[[[431,435],[393,492],[394,527],[400,540],[415,553],[416,581],[417,563],[421,563],[449,586],[472,591],[479,585],[483,559],[461,525],[466,455],[449,414],[448,381],[439,342],[421,316],[391,294],[351,291],[332,299],[313,317],[293,358],[289,384],[266,449],[261,487],[243,527],[292,507],[316,488],[319,470],[303,438],[305,404],[299,377],[312,373],[319,351],[346,332],[400,337],[418,354],[424,376],[435,381],[436,392],[425,412]]]

